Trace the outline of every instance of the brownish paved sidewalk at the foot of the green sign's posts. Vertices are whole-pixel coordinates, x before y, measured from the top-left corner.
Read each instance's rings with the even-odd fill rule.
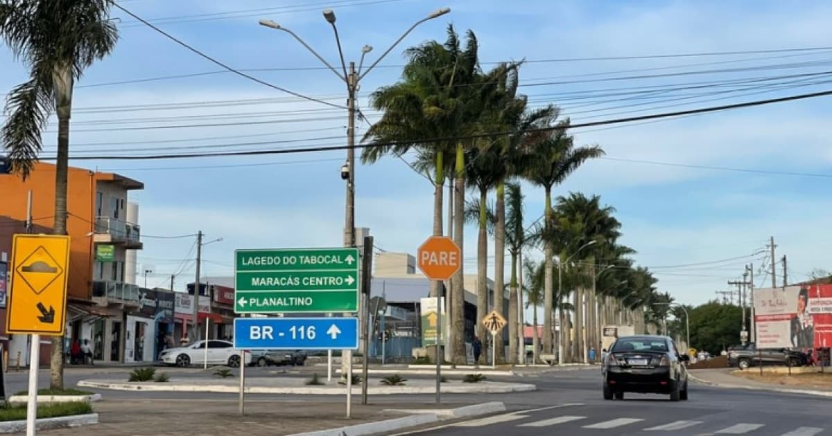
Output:
[[[453,409],[465,404],[442,404]],[[245,416],[237,414],[237,402],[225,399],[157,399],[104,400],[95,404],[100,423],[80,429],[57,429],[39,432],[55,436],[95,434],[96,436],[223,435],[279,436],[314,430],[335,429],[384,419],[407,416],[407,413],[384,412],[384,409],[430,409],[418,403],[360,404],[353,402],[352,419],[345,418],[344,400],[297,401],[246,399]]]

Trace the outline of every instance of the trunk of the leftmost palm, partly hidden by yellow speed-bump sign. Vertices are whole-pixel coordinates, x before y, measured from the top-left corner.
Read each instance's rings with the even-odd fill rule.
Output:
[[[67,174],[69,172],[69,108],[58,108],[57,160],[55,168],[55,226],[52,233],[67,234]],[[52,337],[52,354],[49,360],[52,389],[63,389],[63,336]],[[32,362],[37,370],[38,362]]]

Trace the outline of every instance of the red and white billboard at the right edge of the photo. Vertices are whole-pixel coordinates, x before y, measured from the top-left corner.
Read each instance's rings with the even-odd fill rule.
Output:
[[[755,289],[759,348],[825,348],[832,345],[832,285]]]

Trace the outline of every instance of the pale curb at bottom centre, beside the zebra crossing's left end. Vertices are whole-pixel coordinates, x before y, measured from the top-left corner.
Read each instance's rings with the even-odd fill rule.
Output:
[[[398,409],[385,409],[385,411],[404,411]],[[365,434],[381,434],[394,430],[404,430],[418,425],[432,424],[443,419],[465,418],[483,414],[503,412],[506,406],[503,403],[492,402],[483,404],[472,404],[457,409],[441,410],[409,410],[416,414],[403,418],[385,419],[374,423],[365,423],[341,427],[339,429],[319,430],[308,433],[291,434],[290,436],[363,436]]]

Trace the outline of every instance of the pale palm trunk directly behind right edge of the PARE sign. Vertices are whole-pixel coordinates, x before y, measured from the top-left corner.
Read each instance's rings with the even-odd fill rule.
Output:
[[[453,182],[453,242],[459,247],[459,257],[464,259],[463,249],[463,219],[465,205],[465,154],[462,144],[457,145],[456,155],[456,179]],[[465,353],[465,287],[463,281],[464,271],[453,275],[451,280],[451,312],[453,313],[453,363],[463,365],[466,363]]]

